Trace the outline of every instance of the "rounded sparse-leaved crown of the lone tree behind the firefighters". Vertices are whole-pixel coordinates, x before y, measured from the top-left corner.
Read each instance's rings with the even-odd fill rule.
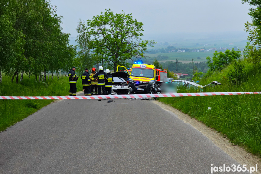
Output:
[[[110,9],[105,9],[104,13],[87,20],[87,23],[80,20],[77,42],[81,44],[78,46],[84,48],[85,53],[88,49],[92,54],[91,59],[100,58],[100,62],[104,61],[116,71],[117,65],[128,65],[129,59],[146,57],[147,46],[155,44],[153,40],[143,41],[140,38],[144,31],[142,27],[142,22],[133,20],[132,14],[123,11],[114,14]]]

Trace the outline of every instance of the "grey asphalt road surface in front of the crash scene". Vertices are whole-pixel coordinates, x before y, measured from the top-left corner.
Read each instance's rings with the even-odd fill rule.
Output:
[[[1,132],[0,173],[204,174],[237,165],[152,101],[107,101],[60,100]]]

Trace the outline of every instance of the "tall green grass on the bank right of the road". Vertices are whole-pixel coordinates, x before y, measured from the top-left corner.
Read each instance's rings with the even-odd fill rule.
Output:
[[[259,68],[244,61],[242,64],[245,65],[243,69],[245,77],[242,83],[231,84],[227,75],[232,68],[229,66],[201,80],[201,84],[214,80],[222,83],[220,86],[207,88],[206,92],[261,91]],[[243,145],[253,154],[261,155],[260,94],[168,97],[160,100],[225,134],[232,143]]]

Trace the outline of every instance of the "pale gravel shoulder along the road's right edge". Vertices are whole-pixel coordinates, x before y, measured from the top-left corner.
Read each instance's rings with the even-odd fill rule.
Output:
[[[175,113],[179,119],[183,120],[184,123],[191,124],[195,129],[199,130],[203,133],[207,138],[209,138],[216,146],[222,149],[225,153],[235,159],[241,165],[246,164],[247,167],[249,166],[258,166],[258,171],[254,173],[260,173],[260,166],[261,166],[261,158],[259,156],[255,156],[252,153],[248,153],[245,149],[241,146],[236,146],[230,143],[230,141],[223,136],[221,133],[217,132],[216,130],[207,127],[204,123],[198,121],[195,118],[191,118],[189,115],[182,113],[181,111],[166,105],[160,101],[152,101],[153,103],[159,105],[162,109]]]

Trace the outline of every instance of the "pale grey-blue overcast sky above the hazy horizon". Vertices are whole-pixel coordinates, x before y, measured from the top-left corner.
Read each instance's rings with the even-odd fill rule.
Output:
[[[57,15],[63,16],[63,32],[77,37],[79,18],[86,21],[101,11],[132,13],[144,24],[143,34],[179,32],[244,31],[244,23],[251,21],[247,14],[252,6],[241,0],[51,0]]]

